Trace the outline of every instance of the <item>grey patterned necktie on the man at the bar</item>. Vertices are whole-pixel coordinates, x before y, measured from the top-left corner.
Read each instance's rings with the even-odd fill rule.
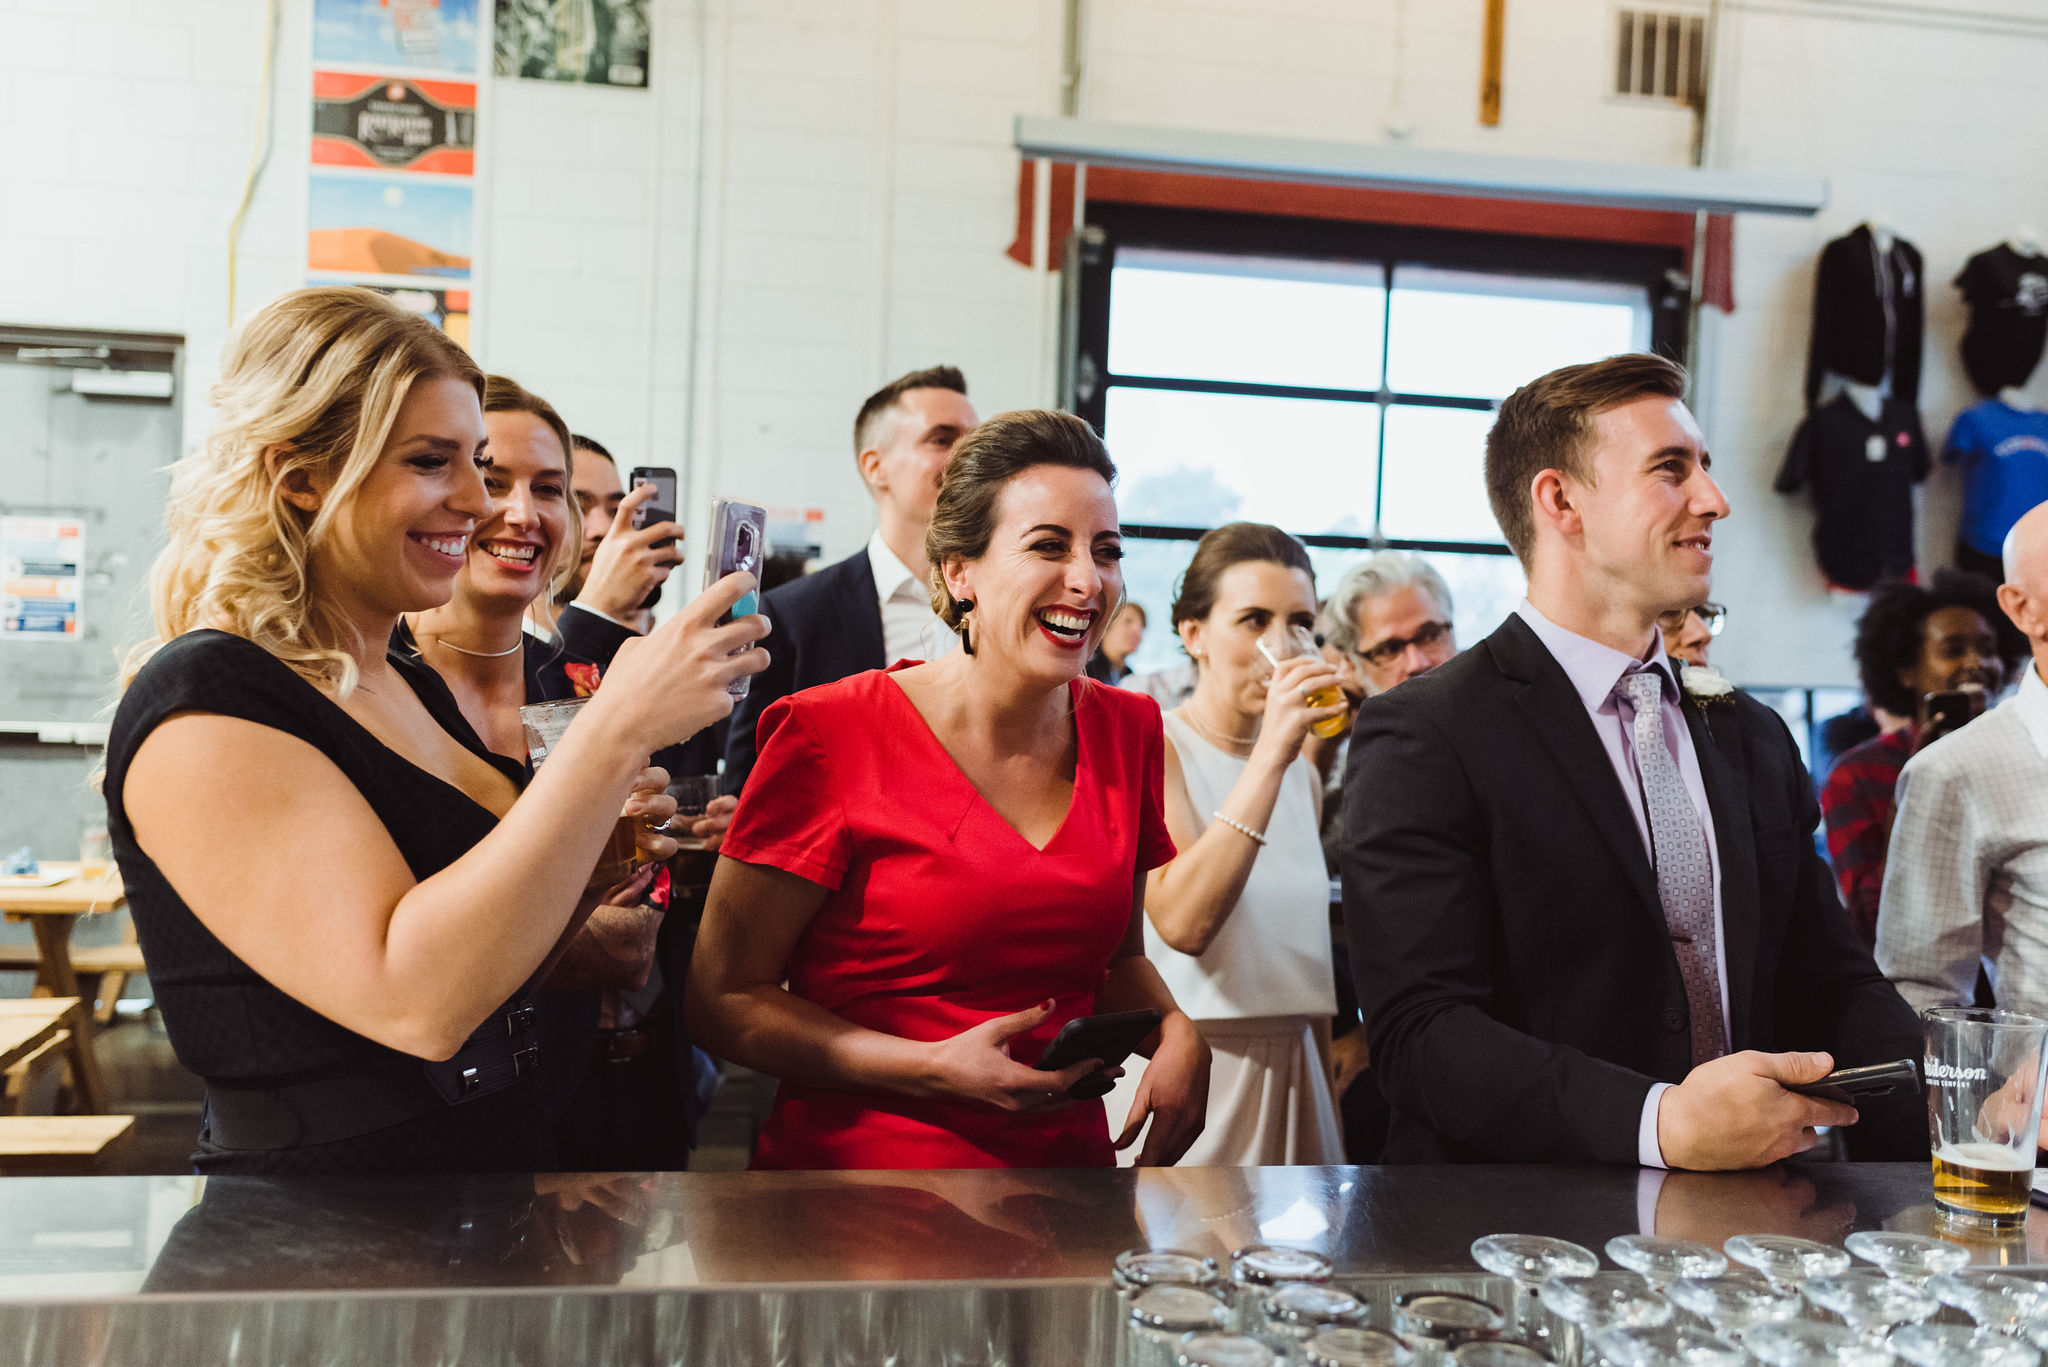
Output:
[[[1706,828],[1692,805],[1686,779],[1663,738],[1663,674],[1655,668],[1622,674],[1614,687],[1634,709],[1636,777],[1642,812],[1651,824],[1651,865],[1663,902],[1671,949],[1686,980],[1692,1017],[1692,1066],[1729,1051],[1720,1014],[1720,974],[1714,951],[1714,863]]]

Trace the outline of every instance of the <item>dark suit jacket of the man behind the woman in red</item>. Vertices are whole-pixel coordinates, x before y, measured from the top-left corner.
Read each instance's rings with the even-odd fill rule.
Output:
[[[770,631],[768,668],[754,676],[733,709],[725,738],[725,791],[737,793],[754,773],[754,728],[768,703],[803,689],[836,682],[889,664],[883,646],[883,605],[866,547],[762,594]]]

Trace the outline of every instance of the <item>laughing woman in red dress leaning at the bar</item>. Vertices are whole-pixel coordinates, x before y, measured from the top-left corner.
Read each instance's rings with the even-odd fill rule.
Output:
[[[1153,1006],[1118,1144],[1202,1129],[1208,1047],[1145,959],[1174,857],[1159,707],[1083,676],[1122,600],[1096,432],[999,414],[946,465],[926,551],[963,650],[809,689],[760,719],[690,965],[698,1043],[780,1078],[758,1168],[1077,1168],[1114,1160],[1075,1017]],[[786,984],[786,986],[784,986]]]

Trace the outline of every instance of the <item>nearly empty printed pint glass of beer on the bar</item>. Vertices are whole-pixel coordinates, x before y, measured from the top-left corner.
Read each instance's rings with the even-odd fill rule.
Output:
[[[1933,1199],[1956,1215],[2023,1219],[2042,1127],[2048,1019],[1982,1006],[1923,1010]]]

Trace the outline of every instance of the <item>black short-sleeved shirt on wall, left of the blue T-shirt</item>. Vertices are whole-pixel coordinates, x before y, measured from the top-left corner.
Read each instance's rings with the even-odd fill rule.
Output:
[[[1886,400],[1872,422],[1839,396],[1792,434],[1778,492],[1812,484],[1812,551],[1837,588],[1866,590],[1913,572],[1913,486],[1927,478],[1927,437],[1911,404]]]

